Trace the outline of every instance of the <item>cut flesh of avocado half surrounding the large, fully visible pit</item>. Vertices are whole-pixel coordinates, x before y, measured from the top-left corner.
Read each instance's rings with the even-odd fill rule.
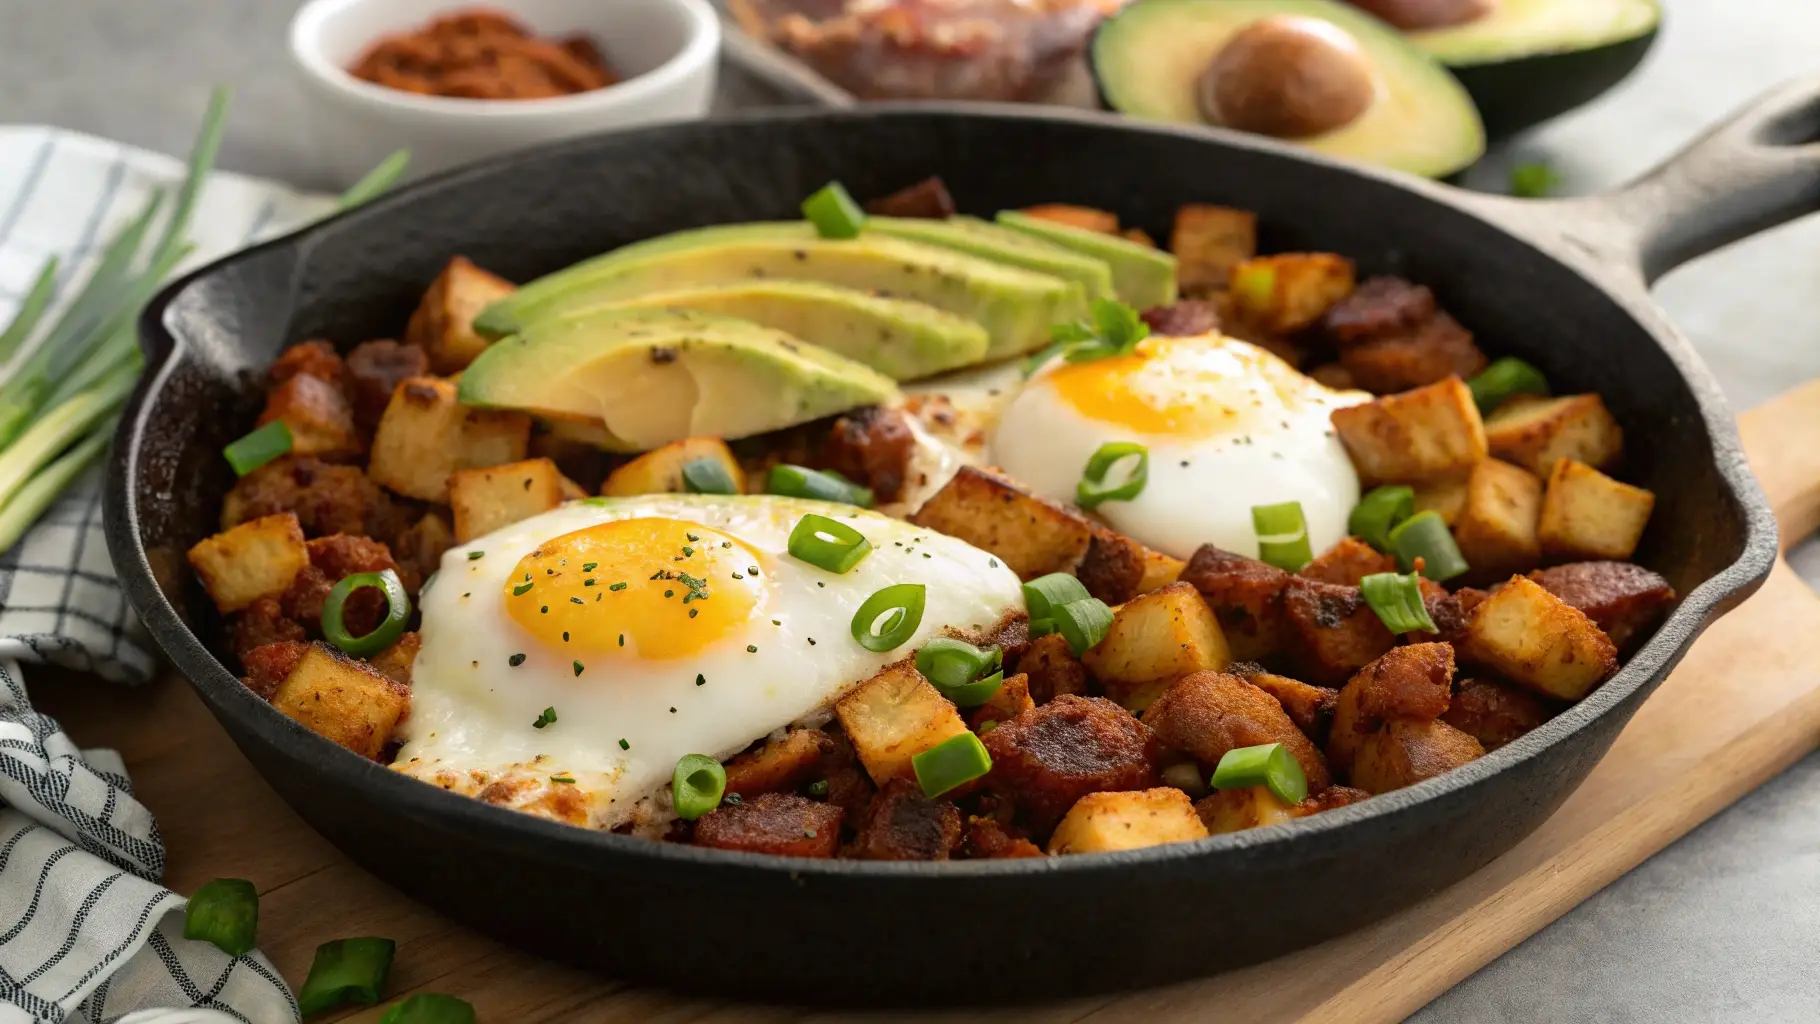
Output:
[[[1099,95],[1136,118],[1207,124],[1196,98],[1201,73],[1236,33],[1272,15],[1320,18],[1352,36],[1376,87],[1354,122],[1292,142],[1431,178],[1485,153],[1485,129],[1460,82],[1394,27],[1334,0],[1138,0],[1094,35]]]

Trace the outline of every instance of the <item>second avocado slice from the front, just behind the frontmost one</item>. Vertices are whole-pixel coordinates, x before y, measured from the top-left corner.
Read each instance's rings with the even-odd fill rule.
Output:
[[[886,298],[812,280],[748,280],[655,291],[615,307],[695,309],[752,320],[863,362],[895,380],[974,366],[986,356],[986,329],[908,298]]]

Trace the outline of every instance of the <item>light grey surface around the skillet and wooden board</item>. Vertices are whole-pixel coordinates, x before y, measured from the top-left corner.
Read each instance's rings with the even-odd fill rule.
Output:
[[[601,0],[602,4],[622,0]],[[0,122],[182,153],[207,89],[237,91],[222,166],[322,186],[284,56],[293,0],[0,0]],[[1762,89],[1820,73],[1816,0],[1667,0],[1642,73],[1494,155],[1614,186]],[[1658,298],[1734,407],[1820,375],[1820,218],[1674,273]],[[1820,438],[1816,438],[1820,442]],[[1798,558],[1820,580],[1820,553]],[[1820,666],[1816,666],[1820,673]],[[1820,758],[1707,822],[1414,1020],[1820,1020]]]

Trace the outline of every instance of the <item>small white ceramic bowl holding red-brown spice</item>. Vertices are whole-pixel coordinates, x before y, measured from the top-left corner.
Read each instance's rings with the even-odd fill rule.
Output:
[[[484,0],[537,35],[588,33],[624,82],[553,100],[419,96],[348,67],[380,36],[477,0],[309,0],[291,20],[291,56],[309,95],[313,142],[349,186],[395,149],[411,176],[537,142],[686,120],[713,98],[721,22],[706,0]]]

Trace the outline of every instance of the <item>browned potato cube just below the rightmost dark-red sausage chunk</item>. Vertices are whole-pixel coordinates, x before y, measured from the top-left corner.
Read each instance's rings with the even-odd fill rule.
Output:
[[[1472,609],[1461,653],[1560,700],[1580,700],[1618,671],[1611,638],[1527,577],[1511,577]]]

